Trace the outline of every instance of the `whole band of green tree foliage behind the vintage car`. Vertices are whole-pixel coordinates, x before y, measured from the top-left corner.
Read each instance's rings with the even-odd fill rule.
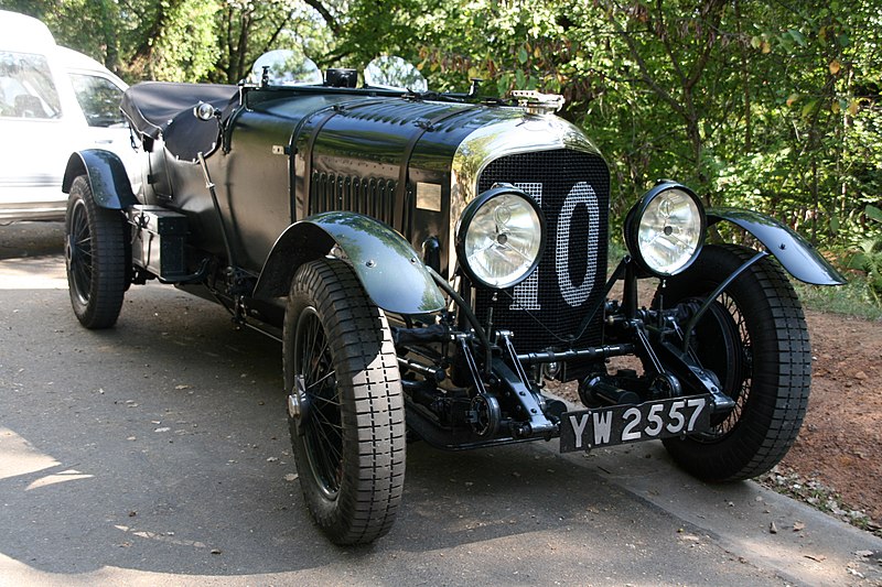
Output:
[[[660,177],[817,242],[882,240],[874,0],[0,0],[129,80],[236,83],[265,51],[411,61],[437,90],[562,94],[610,162],[613,213]],[[868,208],[868,205],[875,208]]]

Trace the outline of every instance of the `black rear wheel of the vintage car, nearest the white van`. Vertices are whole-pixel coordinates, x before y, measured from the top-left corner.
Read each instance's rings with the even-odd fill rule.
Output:
[[[71,186],[65,215],[65,264],[71,304],[86,328],[116,324],[128,285],[128,224],[119,210],[101,208],[86,176]]]

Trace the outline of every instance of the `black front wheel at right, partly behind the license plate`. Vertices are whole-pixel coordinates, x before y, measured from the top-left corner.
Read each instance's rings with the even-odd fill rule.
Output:
[[[665,305],[704,300],[755,252],[704,247],[692,267],[669,280]],[[808,328],[781,267],[766,257],[733,281],[699,320],[690,347],[719,377],[735,407],[710,433],[666,439],[668,453],[708,481],[766,472],[796,441],[811,383]]]

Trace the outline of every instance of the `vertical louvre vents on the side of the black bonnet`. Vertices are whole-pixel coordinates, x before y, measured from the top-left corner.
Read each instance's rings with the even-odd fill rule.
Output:
[[[396,184],[394,180],[315,172],[310,191],[310,214],[356,211],[391,225]]]

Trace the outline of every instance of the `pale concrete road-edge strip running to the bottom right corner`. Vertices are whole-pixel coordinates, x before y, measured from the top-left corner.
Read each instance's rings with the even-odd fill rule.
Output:
[[[604,479],[691,526],[678,536],[697,546],[717,543],[745,564],[776,569],[785,583],[882,585],[882,567],[860,554],[882,552],[872,534],[753,481],[703,483],[674,468],[660,443],[631,449],[642,458],[624,458],[626,450],[595,450],[570,463],[604,471]]]

